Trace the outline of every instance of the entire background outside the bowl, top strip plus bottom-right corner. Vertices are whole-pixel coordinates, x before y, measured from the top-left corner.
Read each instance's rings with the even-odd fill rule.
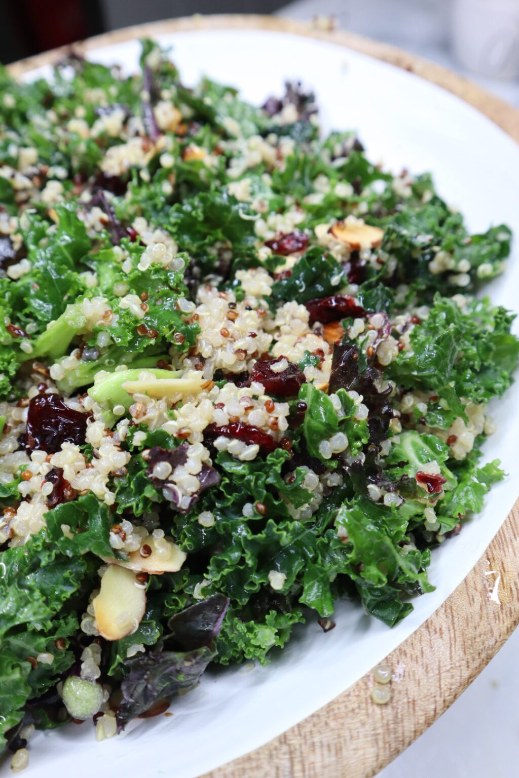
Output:
[[[519,107],[519,0],[0,0],[0,61],[193,13],[275,13],[335,24],[437,61]],[[515,778],[518,651],[516,631],[451,709],[378,778]]]

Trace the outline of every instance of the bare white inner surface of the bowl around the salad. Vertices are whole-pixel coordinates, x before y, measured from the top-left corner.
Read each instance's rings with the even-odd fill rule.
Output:
[[[508,223],[519,235],[519,147],[475,109],[417,76],[342,47],[287,33],[200,30],[160,36],[184,81],[202,74],[231,83],[261,103],[285,79],[302,79],[321,106],[325,130],[356,128],[374,160],[414,173],[432,170],[440,195],[458,205],[473,231]],[[89,58],[135,69],[139,44],[116,44]],[[40,71],[41,72],[41,71]],[[40,73],[39,72],[39,73]],[[33,74],[30,75],[33,77]],[[515,260],[515,261],[514,261]],[[492,283],[493,300],[517,307],[517,242],[506,275]],[[267,668],[213,671],[174,701],[173,717],[157,717],[96,745],[89,724],[38,734],[26,778],[127,773],[194,778],[243,755],[328,703],[420,626],[463,580],[499,529],[517,496],[517,433],[510,424],[519,384],[496,405],[498,431],[485,459],[500,457],[510,477],[496,485],[485,510],[433,552],[433,594],[394,629],[342,603],[336,628],[300,626]],[[419,657],[417,657],[419,661]]]

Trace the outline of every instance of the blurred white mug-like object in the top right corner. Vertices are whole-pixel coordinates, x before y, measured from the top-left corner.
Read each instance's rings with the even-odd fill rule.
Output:
[[[468,70],[519,77],[519,0],[454,0],[452,41]]]

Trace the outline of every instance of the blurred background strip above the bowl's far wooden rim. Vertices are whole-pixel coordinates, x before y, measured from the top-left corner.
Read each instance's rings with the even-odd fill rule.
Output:
[[[470,75],[519,106],[519,0],[0,0],[0,60],[193,13],[331,17]]]

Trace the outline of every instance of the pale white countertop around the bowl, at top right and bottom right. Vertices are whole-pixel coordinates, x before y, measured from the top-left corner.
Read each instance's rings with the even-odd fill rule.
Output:
[[[338,26],[460,72],[519,107],[519,80],[465,71],[449,46],[450,0],[296,0],[279,16],[335,16]],[[390,10],[391,9],[391,10]],[[479,678],[377,778],[516,778],[519,775],[519,629]]]

